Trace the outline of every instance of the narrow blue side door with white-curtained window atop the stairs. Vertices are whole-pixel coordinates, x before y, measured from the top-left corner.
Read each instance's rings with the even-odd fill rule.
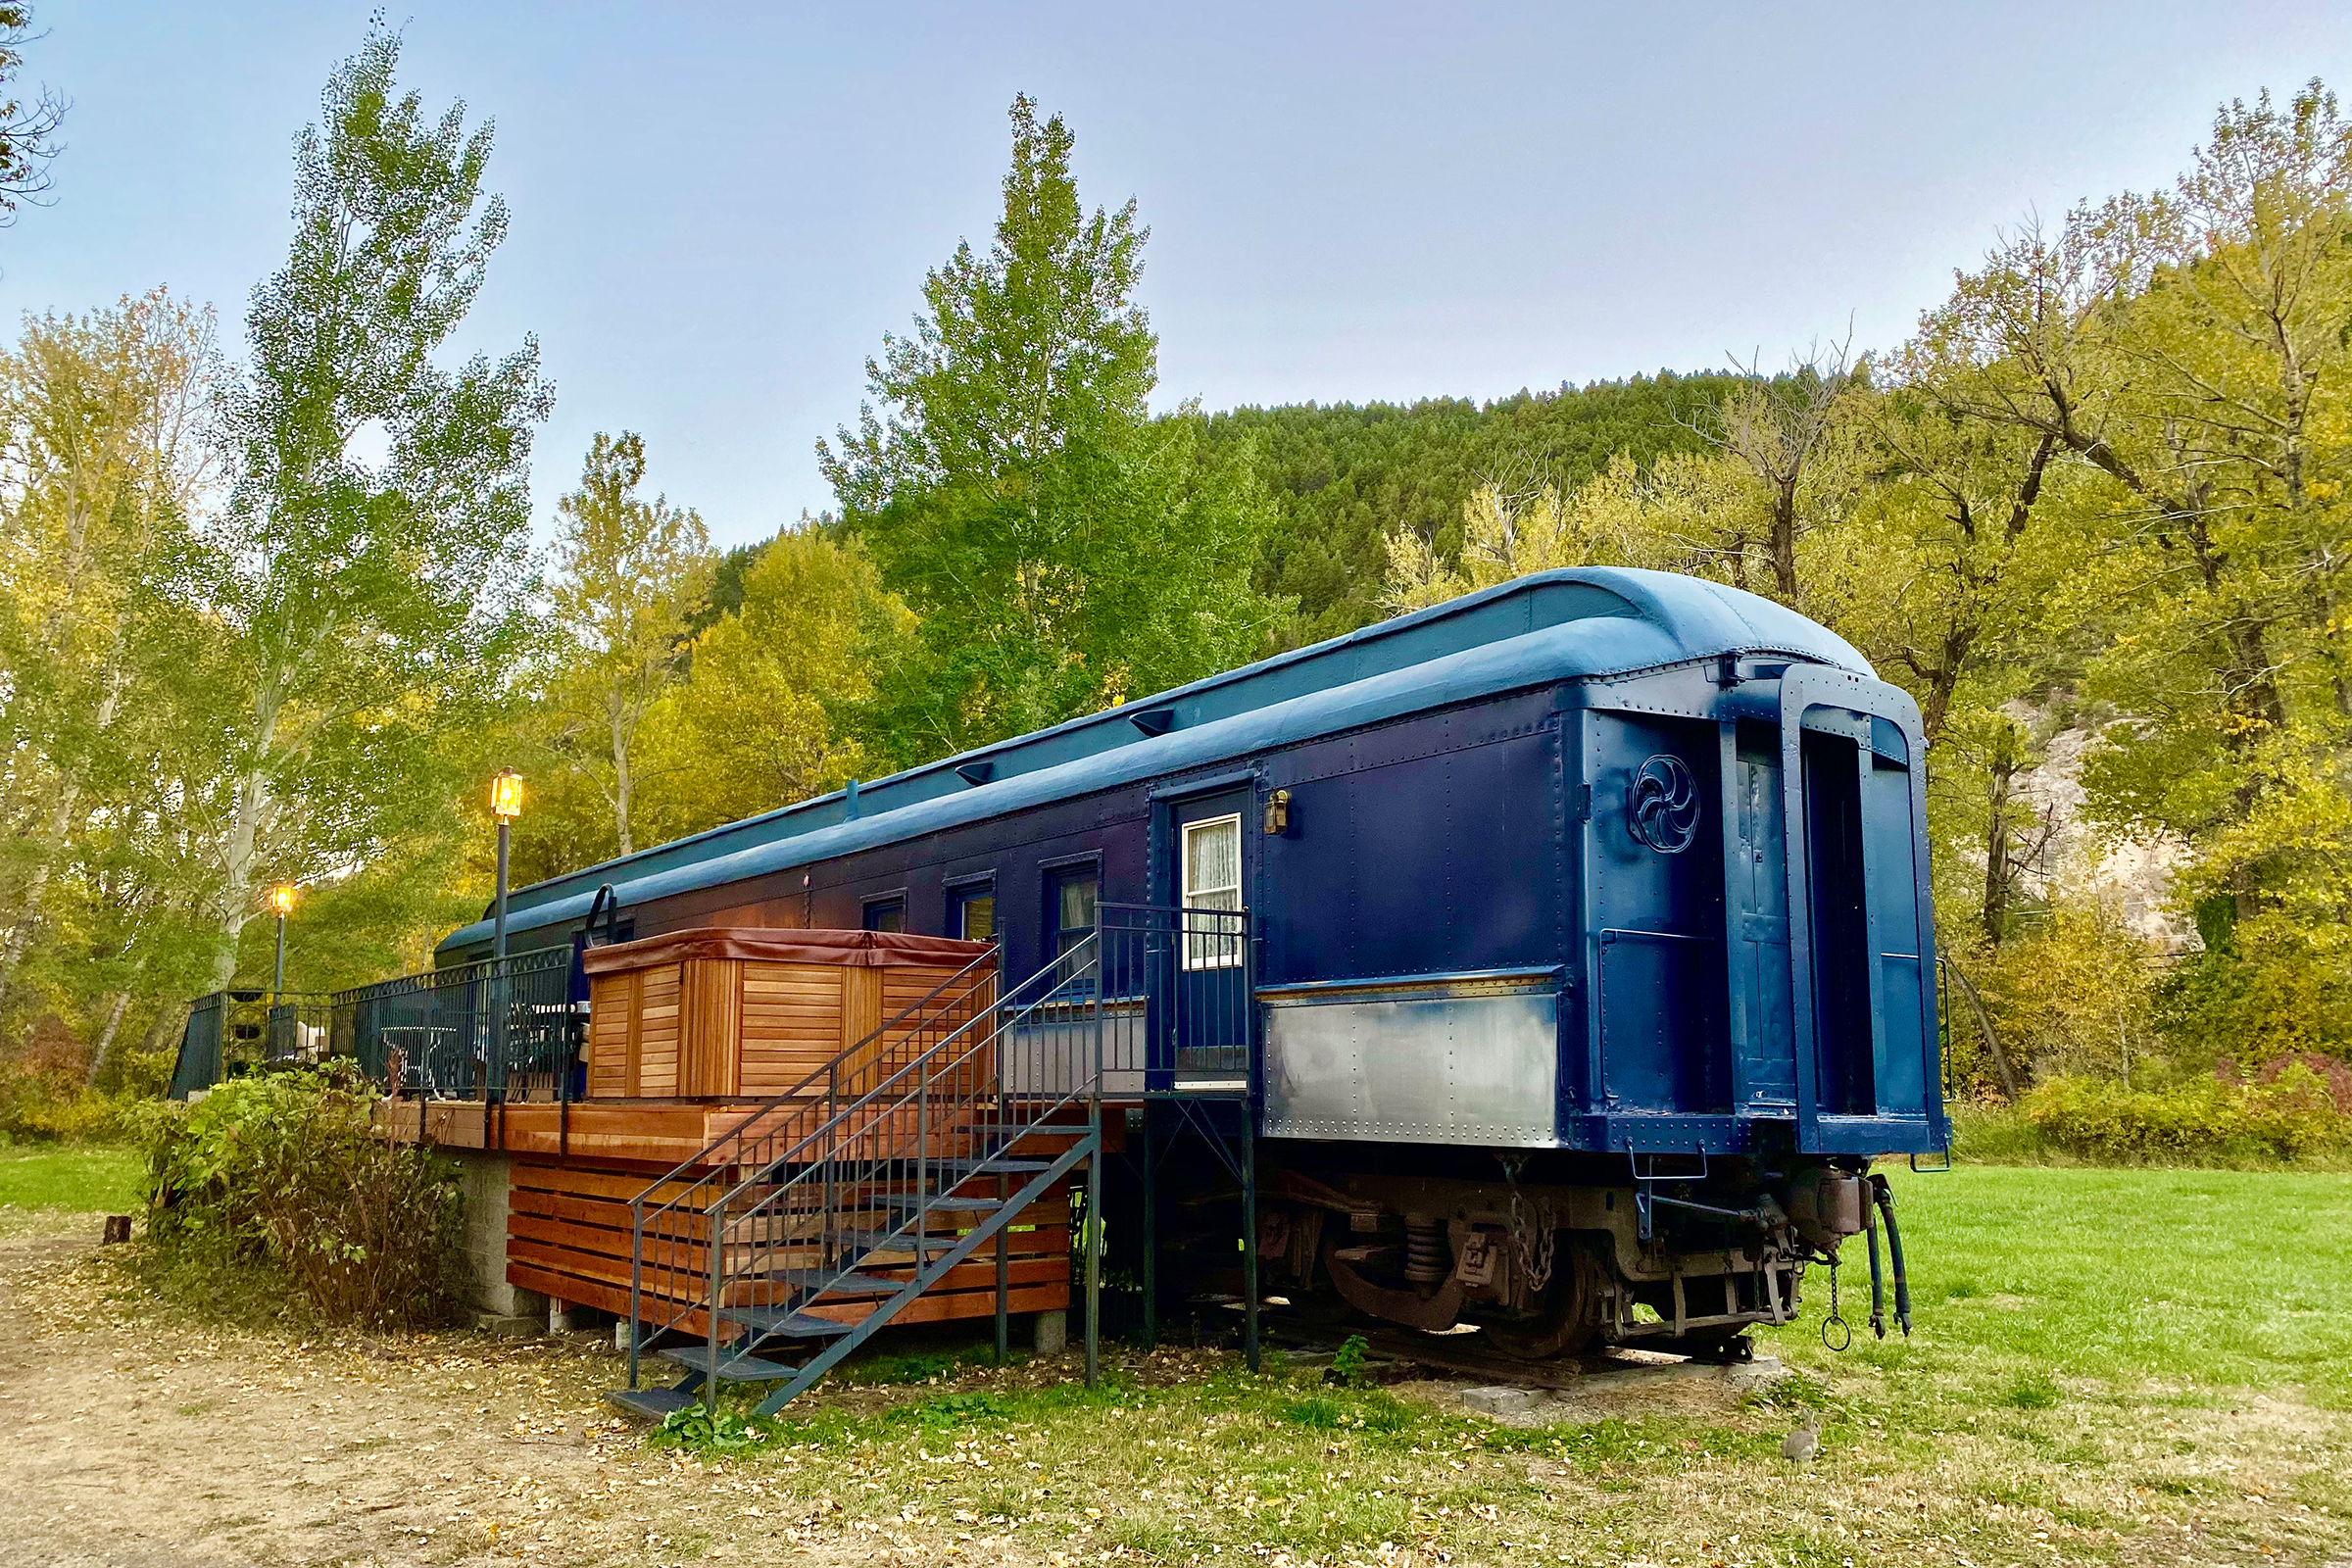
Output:
[[[1176,1088],[1247,1088],[1251,792],[1169,802],[1164,835],[1160,903],[1174,910],[1174,931],[1152,964],[1152,1034]]]

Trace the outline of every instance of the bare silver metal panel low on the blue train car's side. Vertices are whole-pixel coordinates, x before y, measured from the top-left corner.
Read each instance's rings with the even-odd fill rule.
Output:
[[[1559,1143],[1555,992],[1268,1001],[1265,1135]]]

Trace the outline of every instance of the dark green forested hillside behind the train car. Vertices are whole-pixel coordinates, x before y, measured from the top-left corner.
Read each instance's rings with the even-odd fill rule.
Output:
[[[1576,487],[1613,454],[1651,463],[1703,444],[1696,423],[1736,383],[1729,374],[1635,376],[1486,404],[1294,404],[1209,418],[1218,447],[1256,447],[1282,527],[1258,550],[1258,592],[1296,599],[1284,646],[1381,621],[1388,534],[1421,534],[1461,555],[1463,503],[1479,484]]]

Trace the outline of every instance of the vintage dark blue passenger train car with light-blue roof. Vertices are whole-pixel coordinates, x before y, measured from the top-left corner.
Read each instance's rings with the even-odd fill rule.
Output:
[[[1548,571],[522,889],[510,926],[567,940],[609,889],[640,938],[990,936],[1025,976],[1112,903],[1247,910],[1247,961],[1185,964],[1247,1039],[1162,1088],[1242,1091],[1282,1288],[1703,1349],[1795,1312],[1882,1211],[1870,1157],[1947,1145],[1922,769],[1825,628]]]

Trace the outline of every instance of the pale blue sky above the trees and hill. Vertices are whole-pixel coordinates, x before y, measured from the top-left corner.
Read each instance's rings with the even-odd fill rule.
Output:
[[[158,282],[223,339],[367,0],[42,0],[73,99],[0,310]],[[1496,397],[1900,341],[2002,226],[2171,179],[2216,103],[2352,89],[2352,7],[397,5],[405,80],[499,122],[513,235],[461,348],[536,331],[541,512],[593,430],[739,543],[927,268],[985,240],[1014,92],[1134,195],[1160,404]]]

